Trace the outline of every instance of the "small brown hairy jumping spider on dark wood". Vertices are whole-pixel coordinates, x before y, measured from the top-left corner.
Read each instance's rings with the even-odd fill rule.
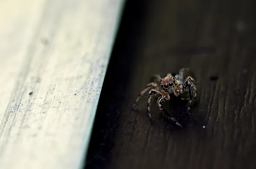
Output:
[[[166,109],[163,108],[163,103],[166,100],[170,100],[170,95],[174,94],[176,97],[180,96],[182,100],[189,100],[188,109],[190,111],[190,107],[192,106],[195,97],[197,95],[197,87],[195,86],[195,80],[193,77],[188,76],[184,78],[184,72],[189,71],[189,69],[180,69],[179,74],[172,75],[171,73],[167,74],[166,77],[161,78],[159,74],[154,75],[157,78],[157,81],[160,82],[160,85],[157,83],[149,83],[145,89],[140,92],[138,95],[133,108],[135,108],[136,103],[140,99],[142,95],[148,90],[151,89],[148,93],[148,116],[151,120],[151,98],[153,96],[158,97],[157,99],[157,107],[163,113],[163,115],[170,121],[174,122],[177,126],[181,126],[181,124],[172,117]]]

